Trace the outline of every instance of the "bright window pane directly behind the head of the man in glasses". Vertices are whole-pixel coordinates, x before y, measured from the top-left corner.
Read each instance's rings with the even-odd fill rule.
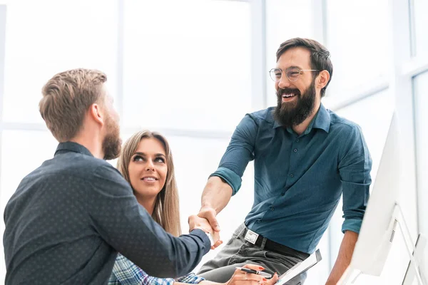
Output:
[[[266,1],[266,68],[274,68],[276,51],[280,44],[290,38],[316,38],[312,0],[267,0]],[[305,17],[302,19],[302,15]],[[277,105],[275,84],[266,74],[267,105]]]

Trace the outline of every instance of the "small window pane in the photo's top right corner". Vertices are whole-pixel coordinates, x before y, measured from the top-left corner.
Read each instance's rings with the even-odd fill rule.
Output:
[[[417,56],[428,56],[428,0],[413,0],[414,36]]]

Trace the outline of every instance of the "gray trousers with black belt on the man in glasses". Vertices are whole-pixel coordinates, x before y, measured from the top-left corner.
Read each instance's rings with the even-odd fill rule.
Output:
[[[304,260],[302,257],[267,251],[264,249],[264,242],[262,247],[251,244],[244,239],[245,229],[245,224],[241,224],[223,249],[213,259],[203,264],[198,275],[209,281],[224,283],[232,277],[235,267],[257,264],[263,266],[270,274],[273,275],[276,272],[280,276]],[[300,285],[305,279],[306,273],[296,276],[287,284]]]

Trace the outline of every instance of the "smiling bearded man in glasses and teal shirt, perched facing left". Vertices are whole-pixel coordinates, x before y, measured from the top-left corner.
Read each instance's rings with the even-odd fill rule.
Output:
[[[285,273],[315,252],[343,195],[344,237],[327,284],[350,264],[365,214],[372,160],[360,127],[321,103],[332,78],[330,52],[317,41],[280,45],[270,70],[277,106],[245,115],[203,190],[200,217],[220,231],[216,215],[241,186],[254,160],[254,204],[200,276],[223,282],[235,266],[260,264]],[[288,284],[303,284],[305,274]]]

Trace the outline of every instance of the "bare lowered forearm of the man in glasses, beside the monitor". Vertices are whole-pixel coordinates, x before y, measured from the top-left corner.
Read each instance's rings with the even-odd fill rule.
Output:
[[[358,234],[356,232],[346,231],[340,244],[339,254],[333,266],[330,276],[326,282],[326,285],[335,285],[339,281],[342,274],[350,265],[352,254],[354,253],[355,244],[357,243]]]

